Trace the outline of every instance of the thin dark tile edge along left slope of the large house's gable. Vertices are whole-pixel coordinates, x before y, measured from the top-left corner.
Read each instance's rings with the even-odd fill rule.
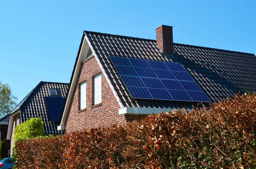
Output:
[[[80,43],[80,46],[79,46],[79,49],[78,49],[78,52],[77,52],[77,56],[76,56],[76,62],[75,62],[74,68],[73,68],[73,72],[72,72],[71,78],[70,78],[70,83],[68,85],[67,96],[65,98],[64,106],[63,106],[62,111],[61,111],[61,116],[60,116],[60,120],[58,122],[58,125],[61,125],[62,116],[64,114],[64,108],[65,108],[65,106],[67,104],[67,97],[68,97],[69,92],[70,92],[70,87],[71,87],[71,83],[72,83],[72,80],[73,80],[73,77],[74,77],[74,74],[75,74],[75,70],[76,70],[76,65],[78,63],[79,54],[81,52],[82,45],[83,45],[83,42],[84,42],[84,36],[85,36],[85,34],[83,33],[83,36],[82,36],[82,39],[81,39],[81,43]]]

